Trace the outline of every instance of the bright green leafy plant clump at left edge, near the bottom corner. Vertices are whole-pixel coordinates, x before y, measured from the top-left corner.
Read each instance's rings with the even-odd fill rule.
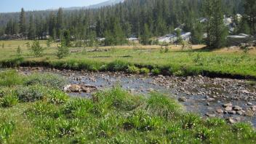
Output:
[[[13,121],[4,121],[0,124],[0,143],[5,143],[6,140],[12,135],[15,129],[15,123]]]

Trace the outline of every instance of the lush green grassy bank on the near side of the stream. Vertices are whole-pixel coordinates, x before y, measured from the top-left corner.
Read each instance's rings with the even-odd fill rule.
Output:
[[[59,76],[4,71],[0,77],[0,143],[256,141],[249,124],[201,119],[159,93],[143,97],[116,87],[91,99],[71,98],[60,91],[65,80]]]

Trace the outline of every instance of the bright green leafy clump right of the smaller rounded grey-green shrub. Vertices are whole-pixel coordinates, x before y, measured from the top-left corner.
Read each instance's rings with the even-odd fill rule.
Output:
[[[60,90],[52,89],[49,91],[47,100],[52,104],[63,104],[68,101],[68,95]]]

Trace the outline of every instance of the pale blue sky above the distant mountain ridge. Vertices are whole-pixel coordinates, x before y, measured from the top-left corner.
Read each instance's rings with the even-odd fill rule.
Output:
[[[83,7],[107,0],[0,0],[0,12],[56,9],[59,7]]]

